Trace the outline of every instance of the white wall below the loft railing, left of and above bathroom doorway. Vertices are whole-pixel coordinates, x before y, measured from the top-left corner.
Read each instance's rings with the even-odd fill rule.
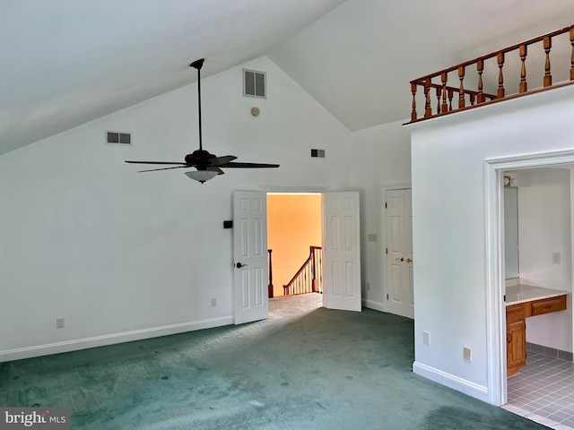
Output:
[[[574,149],[573,95],[554,89],[409,127],[416,373],[483,400],[497,390],[487,372],[485,160]]]

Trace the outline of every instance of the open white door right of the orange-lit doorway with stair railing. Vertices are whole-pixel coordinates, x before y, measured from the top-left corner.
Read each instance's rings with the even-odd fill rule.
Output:
[[[323,194],[324,305],[361,312],[359,193]]]

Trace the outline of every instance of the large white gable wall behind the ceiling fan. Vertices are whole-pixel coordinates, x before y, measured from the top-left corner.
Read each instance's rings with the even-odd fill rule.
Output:
[[[230,323],[233,190],[348,186],[351,133],[269,59],[244,66],[267,73],[268,98],[242,96],[241,67],[205,79],[204,149],[281,168],[199,185],[125,164],[196,150],[195,83],[0,157],[1,361]]]

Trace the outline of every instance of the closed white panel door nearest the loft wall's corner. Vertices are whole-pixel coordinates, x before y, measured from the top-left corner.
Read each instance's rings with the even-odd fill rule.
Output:
[[[414,318],[412,190],[387,191],[387,311]]]

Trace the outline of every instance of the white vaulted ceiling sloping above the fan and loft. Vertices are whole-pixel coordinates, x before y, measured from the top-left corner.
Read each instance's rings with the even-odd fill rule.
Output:
[[[0,0],[0,154],[269,56],[350,130],[408,82],[572,24],[571,0]]]

